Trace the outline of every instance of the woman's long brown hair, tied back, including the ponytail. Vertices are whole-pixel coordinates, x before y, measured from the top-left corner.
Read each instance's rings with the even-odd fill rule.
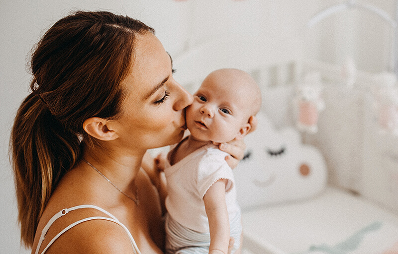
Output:
[[[121,81],[135,34],[153,29],[110,12],[75,12],[56,22],[31,59],[32,93],[22,102],[10,140],[21,241],[32,247],[37,224],[62,176],[77,162],[90,117],[117,119]],[[82,139],[83,138],[83,139]]]

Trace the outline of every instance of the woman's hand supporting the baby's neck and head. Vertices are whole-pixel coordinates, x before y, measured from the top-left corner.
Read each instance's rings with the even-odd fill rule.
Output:
[[[257,128],[258,122],[255,116],[251,116],[249,118],[249,124],[251,128],[248,133],[254,131]],[[229,153],[230,155],[225,157],[226,162],[231,168],[235,168],[239,161],[243,159],[245,155],[246,144],[243,139],[237,140],[234,139],[229,141],[228,143],[213,143],[214,145],[218,145],[218,148],[221,151]]]

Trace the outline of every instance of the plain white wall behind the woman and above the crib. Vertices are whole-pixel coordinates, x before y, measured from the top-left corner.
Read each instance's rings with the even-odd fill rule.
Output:
[[[257,59],[278,63],[300,57],[302,42],[317,57],[338,62],[346,49],[355,53],[359,66],[379,71],[386,66],[383,35],[372,28],[375,38],[367,38],[367,30],[357,35],[355,29],[330,29],[325,24],[307,34],[304,24],[317,10],[338,3],[338,0],[2,0],[0,3],[0,246],[2,253],[29,253],[19,245],[16,201],[8,140],[14,114],[28,94],[30,75],[27,72],[29,53],[40,35],[71,10],[110,10],[138,18],[156,30],[166,50],[178,58],[186,49],[214,37],[247,40]],[[378,0],[364,2],[381,4]],[[394,13],[394,0],[383,1],[382,8]],[[338,17],[334,17],[334,19]],[[352,18],[352,17],[347,17]],[[356,17],[357,18],[357,17]],[[360,16],[357,19],[364,19]],[[356,19],[356,20],[357,20]],[[366,18],[365,18],[366,19]],[[366,27],[371,27],[366,19]],[[335,21],[335,20],[334,20]],[[329,21],[333,23],[332,21]],[[329,24],[330,25],[330,24]],[[337,37],[337,35],[341,37]],[[339,49],[346,36],[349,46]],[[319,39],[316,39],[319,38]],[[332,43],[332,40],[337,40]],[[343,39],[342,39],[343,38]],[[359,38],[359,39],[358,39]],[[305,39],[305,40],[304,40]],[[313,43],[312,43],[313,42]],[[316,43],[318,42],[318,44]],[[250,44],[249,44],[250,43]],[[381,46],[380,46],[381,45]],[[339,46],[339,47],[337,47]],[[325,49],[326,48],[326,49]],[[373,50],[377,49],[377,50]],[[344,53],[344,54],[343,54]],[[292,54],[297,56],[292,57]],[[363,60],[363,61],[362,61]],[[209,60],[211,61],[211,60]]]

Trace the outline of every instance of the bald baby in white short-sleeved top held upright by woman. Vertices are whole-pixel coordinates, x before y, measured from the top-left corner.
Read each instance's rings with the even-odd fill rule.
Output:
[[[211,72],[187,108],[190,135],[168,154],[166,253],[226,254],[240,248],[240,208],[228,154],[213,142],[243,138],[249,119],[260,110],[261,92],[252,77],[238,69]],[[165,163],[165,162],[163,162]]]

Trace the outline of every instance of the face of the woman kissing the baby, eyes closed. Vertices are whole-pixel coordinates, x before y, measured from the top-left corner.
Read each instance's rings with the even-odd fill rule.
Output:
[[[127,95],[118,129],[123,147],[156,148],[177,143],[186,129],[192,95],[172,75],[172,61],[151,33],[137,35]]]

